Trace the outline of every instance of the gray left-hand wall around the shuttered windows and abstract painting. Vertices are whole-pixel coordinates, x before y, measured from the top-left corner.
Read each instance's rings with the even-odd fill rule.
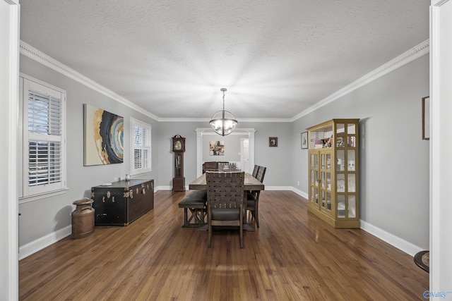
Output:
[[[61,228],[71,225],[73,201],[90,197],[90,188],[102,183],[114,182],[117,177],[130,173],[129,131],[130,117],[149,123],[153,127],[153,146],[158,145],[158,123],[133,111],[128,106],[109,99],[103,94],[79,84],[78,82],[54,72],[25,56],[20,56],[20,72],[66,90],[66,146],[67,146],[67,187],[63,195],[45,197],[19,205],[19,245],[44,237]],[[83,166],[83,104],[94,106],[124,117],[124,163],[107,166]],[[158,152],[153,147],[153,172],[136,178],[158,180]]]

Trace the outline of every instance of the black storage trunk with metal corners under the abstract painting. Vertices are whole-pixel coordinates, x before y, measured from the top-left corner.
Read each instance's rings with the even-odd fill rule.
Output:
[[[154,208],[154,180],[122,180],[91,188],[96,226],[127,226]]]

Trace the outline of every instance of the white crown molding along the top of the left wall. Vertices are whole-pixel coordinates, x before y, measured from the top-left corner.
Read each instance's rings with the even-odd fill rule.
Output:
[[[40,63],[43,66],[46,66],[47,68],[50,68],[54,71],[57,71],[58,73],[61,73],[62,75],[71,78],[72,80],[75,80],[76,82],[79,82],[92,90],[104,94],[105,96],[114,99],[117,102],[124,104],[125,106],[129,106],[129,108],[136,110],[140,113],[143,113],[145,116],[148,116],[150,118],[155,119],[156,121],[159,121],[159,118],[155,116],[153,113],[150,113],[149,111],[146,111],[140,106],[133,104],[133,102],[130,102],[128,99],[121,97],[119,94],[114,93],[112,90],[109,90],[106,87],[99,85],[94,80],[91,80],[90,78],[87,78],[85,75],[78,73],[76,70],[73,70],[69,66],[64,65],[64,63],[60,63],[56,59],[52,59],[52,57],[47,56],[47,54],[44,54],[42,51],[39,51],[35,47],[32,47],[30,44],[20,41],[20,54],[22,54],[23,56],[27,56],[33,61],[36,61],[37,63]]]

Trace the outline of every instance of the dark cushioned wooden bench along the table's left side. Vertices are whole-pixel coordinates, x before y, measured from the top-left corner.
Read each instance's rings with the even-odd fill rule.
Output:
[[[204,225],[206,202],[206,190],[194,190],[189,192],[189,194],[179,202],[179,208],[184,208],[184,224],[182,225],[182,228],[193,228]]]

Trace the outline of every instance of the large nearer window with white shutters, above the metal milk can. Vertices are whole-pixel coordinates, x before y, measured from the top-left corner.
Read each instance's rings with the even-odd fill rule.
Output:
[[[20,78],[22,120],[19,197],[66,188],[66,92],[30,78]]]

